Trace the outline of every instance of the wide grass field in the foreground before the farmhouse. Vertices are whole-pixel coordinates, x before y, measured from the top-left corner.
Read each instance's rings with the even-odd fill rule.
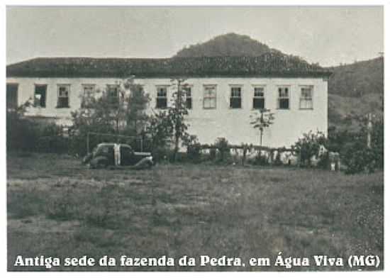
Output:
[[[383,172],[347,176],[217,165],[93,170],[72,157],[36,154],[11,154],[7,163],[9,270],[47,270],[13,267],[16,255],[226,255],[243,262],[270,257],[272,265],[279,251],[285,257],[374,254],[383,259]],[[350,268],[292,268],[315,269]],[[246,264],[51,270],[291,269]]]

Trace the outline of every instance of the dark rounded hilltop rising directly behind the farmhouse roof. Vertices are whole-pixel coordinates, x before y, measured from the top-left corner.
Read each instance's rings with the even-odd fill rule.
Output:
[[[206,43],[183,48],[174,57],[260,56],[269,52],[282,54],[281,51],[269,48],[248,35],[228,33],[218,35]]]

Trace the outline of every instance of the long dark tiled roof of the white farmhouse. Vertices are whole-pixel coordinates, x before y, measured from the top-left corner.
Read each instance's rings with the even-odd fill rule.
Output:
[[[7,77],[328,77],[296,56],[174,57],[166,59],[38,57],[6,67]]]

